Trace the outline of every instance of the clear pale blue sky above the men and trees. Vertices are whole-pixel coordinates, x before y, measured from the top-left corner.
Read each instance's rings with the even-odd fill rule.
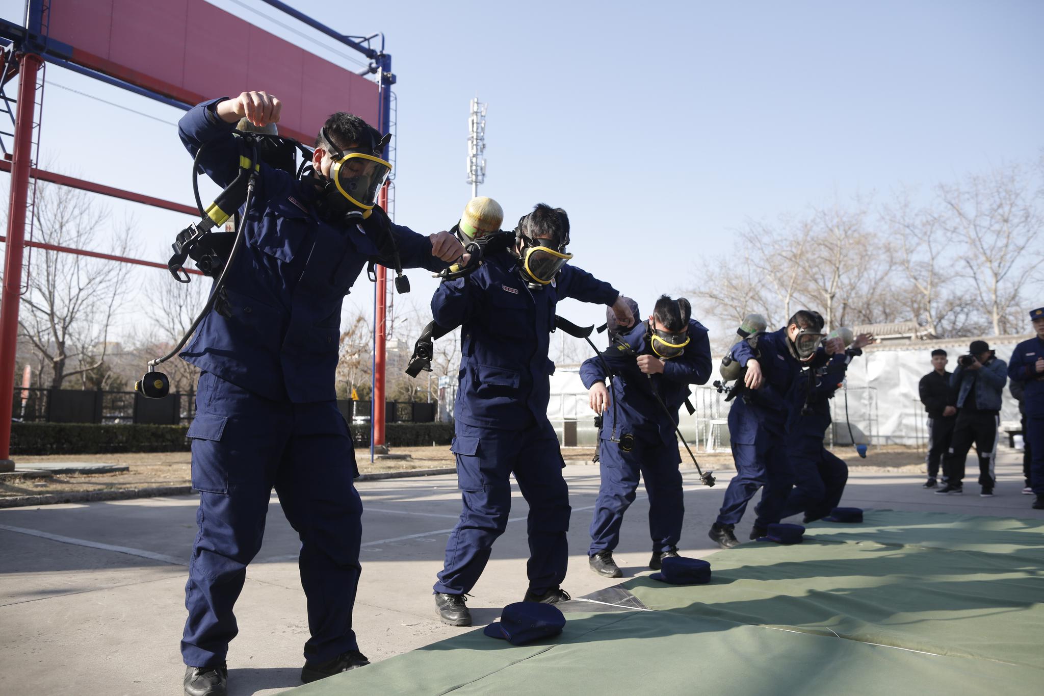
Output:
[[[253,7],[332,45],[258,0],[213,4],[281,32]],[[291,4],[346,33],[386,35],[399,76],[397,221],[419,232],[456,221],[478,95],[490,104],[480,193],[503,205],[508,226],[535,202],[565,208],[575,264],[643,308],[698,286],[748,218],[926,190],[1035,162],[1044,146],[1040,2]],[[2,1],[0,13],[17,20],[21,6]],[[220,59],[235,61],[235,47],[215,47]],[[47,166],[191,200],[169,124],[177,110],[54,67],[48,78]],[[117,219],[135,215],[143,257],[165,259],[186,222],[113,207]],[[423,275],[410,273],[419,305],[434,288]],[[371,297],[360,280],[349,307]],[[573,302],[560,313],[601,316]]]

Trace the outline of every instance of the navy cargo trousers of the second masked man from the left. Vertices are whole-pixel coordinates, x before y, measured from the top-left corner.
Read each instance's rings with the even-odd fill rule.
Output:
[[[546,419],[525,430],[476,428],[457,422],[453,447],[464,508],[446,544],[446,562],[435,592],[460,595],[478,582],[493,542],[507,527],[511,475],[529,504],[529,589],[544,594],[566,578],[569,488],[562,451]]]

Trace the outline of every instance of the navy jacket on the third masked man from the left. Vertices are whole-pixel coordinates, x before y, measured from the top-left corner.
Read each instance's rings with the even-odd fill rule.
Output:
[[[647,340],[647,323],[641,321],[626,336],[620,338],[637,355],[651,355]],[[606,381],[606,366],[613,375],[612,403],[603,414],[601,438],[609,439],[616,429],[616,436],[632,433],[646,442],[677,441],[674,427],[678,409],[689,395],[690,384],[707,384],[711,377],[711,345],[707,329],[693,319],[689,320],[689,344],[677,358],[663,363],[663,374],[651,378],[638,369],[636,355],[626,351],[610,350],[601,358],[588,358],[580,365],[580,379],[588,389],[595,382]],[[656,389],[670,411],[670,418],[656,403],[650,389]]]

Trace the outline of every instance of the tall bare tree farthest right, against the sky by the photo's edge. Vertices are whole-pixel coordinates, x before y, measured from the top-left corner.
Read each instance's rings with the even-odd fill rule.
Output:
[[[971,175],[957,185],[940,185],[945,214],[940,224],[968,244],[962,261],[993,334],[1022,328],[1015,314],[1023,286],[1037,262],[1041,229],[1030,179],[1019,166]]]

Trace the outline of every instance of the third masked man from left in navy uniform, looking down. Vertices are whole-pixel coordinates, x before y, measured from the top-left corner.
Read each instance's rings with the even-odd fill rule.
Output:
[[[591,408],[602,416],[601,485],[588,550],[588,562],[598,575],[622,575],[613,550],[620,542],[623,513],[635,501],[639,476],[649,499],[649,568],[660,570],[663,558],[678,555],[685,515],[682,458],[674,433],[678,409],[689,395],[689,385],[706,384],[712,370],[707,329],[691,313],[684,297],[663,295],[647,321],[580,366]],[[612,378],[612,393],[606,387],[607,377]]]

